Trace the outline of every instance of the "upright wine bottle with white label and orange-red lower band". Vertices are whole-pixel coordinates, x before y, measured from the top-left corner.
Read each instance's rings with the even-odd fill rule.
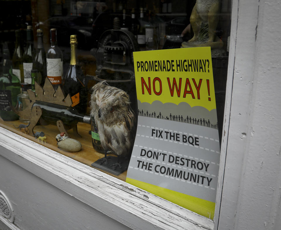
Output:
[[[56,90],[59,85],[62,84],[63,76],[63,62],[62,62],[62,52],[61,49],[57,46],[56,42],[56,29],[52,28],[51,33],[51,46],[47,51],[47,77],[51,81],[54,89]]]

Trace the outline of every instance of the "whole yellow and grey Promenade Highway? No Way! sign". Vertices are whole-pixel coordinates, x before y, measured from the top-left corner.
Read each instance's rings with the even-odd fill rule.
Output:
[[[210,47],[133,55],[138,127],[126,182],[213,219],[220,144]]]

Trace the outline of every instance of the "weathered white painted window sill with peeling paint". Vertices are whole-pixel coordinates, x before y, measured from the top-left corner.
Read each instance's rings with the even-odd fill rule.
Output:
[[[3,151],[3,148],[10,150]],[[0,127],[0,155],[139,230],[213,229],[214,222]]]

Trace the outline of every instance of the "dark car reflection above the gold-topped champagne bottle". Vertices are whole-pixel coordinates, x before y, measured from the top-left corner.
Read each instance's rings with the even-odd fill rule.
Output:
[[[90,50],[90,48],[92,48],[91,25],[92,22],[88,22],[88,18],[57,16],[49,18],[43,23],[37,23],[37,28],[45,27],[47,30],[56,28],[57,42],[59,46],[69,46],[70,35],[76,34],[78,48]]]

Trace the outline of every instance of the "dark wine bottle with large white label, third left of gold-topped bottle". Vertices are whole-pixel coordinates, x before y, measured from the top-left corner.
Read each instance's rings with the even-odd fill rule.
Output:
[[[33,62],[33,39],[32,39],[32,26],[28,25],[26,30],[27,47],[23,54],[23,76],[24,82],[31,84],[31,69]]]

